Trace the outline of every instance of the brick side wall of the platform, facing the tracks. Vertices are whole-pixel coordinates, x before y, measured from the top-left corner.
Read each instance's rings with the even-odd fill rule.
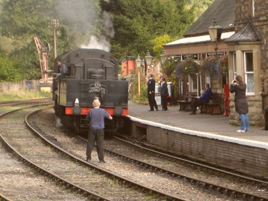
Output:
[[[251,175],[268,176],[268,150],[266,148],[232,142],[231,138],[226,140],[228,138],[226,136],[219,140],[219,136],[213,134],[201,132],[195,134],[191,131],[187,133],[185,130],[185,132],[175,131],[130,120],[127,122],[128,128],[132,128],[128,129],[130,136],[140,136],[142,131],[147,138],[148,145],[157,150]]]

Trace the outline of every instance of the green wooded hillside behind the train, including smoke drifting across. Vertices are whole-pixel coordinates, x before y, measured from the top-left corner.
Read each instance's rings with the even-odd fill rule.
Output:
[[[161,46],[182,38],[196,19],[196,10],[212,0],[27,0],[0,1],[0,52],[8,51],[8,58],[19,76],[4,79],[40,79],[38,51],[33,41],[52,47],[49,67],[54,61],[54,32],[48,26],[58,19],[56,50],[61,54],[77,47],[88,47],[93,35],[120,60],[126,56],[145,56],[149,49],[155,58]],[[194,6],[195,5],[195,6]],[[203,6],[204,5],[204,6]],[[111,39],[111,40],[109,40]],[[98,47],[94,45],[90,47]],[[9,63],[12,63],[10,62]],[[19,63],[16,65],[15,63]],[[14,73],[12,70],[10,73]]]

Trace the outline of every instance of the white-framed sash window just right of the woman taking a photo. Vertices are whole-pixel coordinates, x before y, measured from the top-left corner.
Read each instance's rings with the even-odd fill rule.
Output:
[[[253,53],[244,51],[244,72],[246,82],[246,94],[254,95]]]

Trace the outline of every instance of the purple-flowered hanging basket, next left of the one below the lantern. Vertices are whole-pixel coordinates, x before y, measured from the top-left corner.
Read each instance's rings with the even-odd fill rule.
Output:
[[[180,62],[176,67],[176,72],[184,73],[191,77],[196,76],[199,72],[198,64],[192,58],[186,58],[184,61]]]

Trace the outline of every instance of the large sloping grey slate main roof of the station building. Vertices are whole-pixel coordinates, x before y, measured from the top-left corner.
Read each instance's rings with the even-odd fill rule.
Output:
[[[214,18],[223,27],[223,32],[235,31],[235,0],[215,0],[184,33],[184,37],[208,34],[207,29],[213,24]]]

